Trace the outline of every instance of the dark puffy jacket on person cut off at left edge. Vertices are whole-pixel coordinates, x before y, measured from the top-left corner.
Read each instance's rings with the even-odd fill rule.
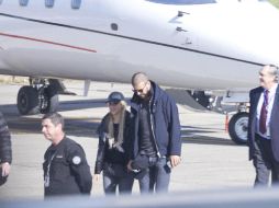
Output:
[[[0,163],[12,162],[11,135],[3,115],[0,113]]]

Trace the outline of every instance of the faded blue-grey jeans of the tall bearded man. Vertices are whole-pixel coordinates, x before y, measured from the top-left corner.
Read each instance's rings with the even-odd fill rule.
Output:
[[[167,193],[171,169],[166,158],[157,159],[149,163],[145,175],[138,180],[142,194]]]

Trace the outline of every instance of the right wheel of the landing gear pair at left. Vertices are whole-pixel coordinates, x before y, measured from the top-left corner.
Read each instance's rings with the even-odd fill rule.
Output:
[[[41,113],[47,114],[58,109],[59,99],[58,94],[52,85],[44,88],[42,92]]]

